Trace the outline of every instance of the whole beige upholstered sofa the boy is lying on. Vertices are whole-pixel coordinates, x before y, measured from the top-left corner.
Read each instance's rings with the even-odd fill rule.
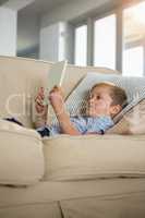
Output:
[[[32,102],[51,64],[0,57],[0,116],[25,125],[0,123],[0,218],[144,218],[144,135],[43,141],[32,130]],[[69,65],[65,96],[88,71],[118,73]]]

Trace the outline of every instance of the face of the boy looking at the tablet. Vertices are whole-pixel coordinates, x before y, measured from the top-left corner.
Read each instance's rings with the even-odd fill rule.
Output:
[[[112,98],[109,93],[109,87],[107,86],[98,86],[90,90],[87,108],[88,116],[112,116],[114,106],[111,106]]]

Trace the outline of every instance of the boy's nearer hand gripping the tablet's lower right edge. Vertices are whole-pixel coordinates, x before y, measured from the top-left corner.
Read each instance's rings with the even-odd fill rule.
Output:
[[[60,86],[55,86],[49,93],[49,100],[56,113],[60,113],[64,107],[63,90]]]

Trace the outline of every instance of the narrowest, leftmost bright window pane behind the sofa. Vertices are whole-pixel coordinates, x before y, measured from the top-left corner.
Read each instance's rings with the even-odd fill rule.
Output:
[[[76,65],[87,64],[87,25],[75,28],[74,63]]]

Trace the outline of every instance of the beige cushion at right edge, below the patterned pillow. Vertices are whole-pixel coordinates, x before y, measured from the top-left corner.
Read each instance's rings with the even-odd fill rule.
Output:
[[[126,112],[106,134],[145,134],[145,99]]]

